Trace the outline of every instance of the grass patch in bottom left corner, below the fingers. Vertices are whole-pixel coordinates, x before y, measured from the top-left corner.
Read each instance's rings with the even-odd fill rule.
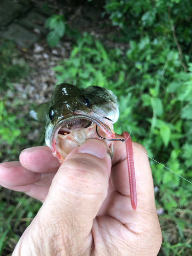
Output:
[[[0,187],[0,255],[11,255],[41,203],[24,193]]]

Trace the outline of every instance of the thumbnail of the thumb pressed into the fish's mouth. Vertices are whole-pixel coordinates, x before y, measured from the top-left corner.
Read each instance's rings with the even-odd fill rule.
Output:
[[[91,154],[103,159],[108,152],[108,147],[103,141],[100,141],[98,139],[90,139],[82,144],[77,152]]]

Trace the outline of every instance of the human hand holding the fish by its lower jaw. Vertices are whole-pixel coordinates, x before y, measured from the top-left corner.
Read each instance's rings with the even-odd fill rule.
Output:
[[[144,151],[140,144],[133,145]],[[114,143],[112,168],[106,152],[105,142],[90,139],[60,167],[47,146],[23,151],[21,165],[0,165],[1,185],[44,202],[13,256],[157,255],[162,238],[148,158],[133,148],[138,202],[134,211],[125,143]]]

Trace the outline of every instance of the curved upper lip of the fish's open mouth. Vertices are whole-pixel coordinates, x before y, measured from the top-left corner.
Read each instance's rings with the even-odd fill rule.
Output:
[[[100,116],[95,117],[82,111],[78,111],[70,116],[66,116],[60,119],[59,122],[54,126],[53,131],[51,133],[51,149],[53,154],[57,152],[57,136],[60,128],[63,126],[63,124],[68,124],[72,120],[74,121],[78,119],[86,119],[91,122],[94,122],[106,134],[106,137],[110,138],[110,135],[114,134],[114,132],[110,129],[108,125],[106,125],[100,120],[101,118],[102,117]]]

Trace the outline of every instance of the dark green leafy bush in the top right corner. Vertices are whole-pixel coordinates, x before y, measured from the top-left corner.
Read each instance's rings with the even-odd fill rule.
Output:
[[[114,26],[119,26],[124,35],[121,39],[126,41],[139,40],[144,35],[150,39],[164,38],[175,47],[174,31],[178,35],[178,42],[182,44],[182,50],[190,48],[191,35],[190,13],[192,4],[188,0],[160,0],[160,1],[134,1],[134,0],[106,0],[105,13],[112,20]]]

